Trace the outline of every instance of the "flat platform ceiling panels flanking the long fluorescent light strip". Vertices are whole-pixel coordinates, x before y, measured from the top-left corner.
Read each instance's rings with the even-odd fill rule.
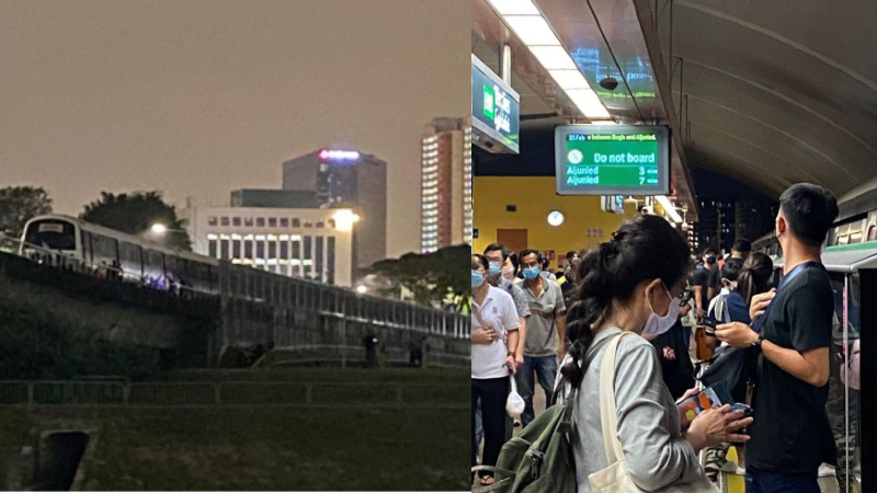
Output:
[[[664,70],[660,51],[653,49],[659,60],[657,65],[652,64],[647,39],[640,30],[640,16],[643,13],[649,15],[648,7],[638,5],[633,0],[534,2],[617,123],[668,124],[675,118],[669,79],[662,81],[656,77],[656,72]],[[653,38],[657,46],[657,36]],[[508,43],[512,50],[512,88],[521,94],[522,134],[553,138],[550,130],[557,125],[588,123],[528,48],[503,24],[489,0],[472,0],[472,54],[499,71],[499,47],[503,43]],[[617,88],[601,88],[600,82],[607,78],[615,79]],[[523,148],[522,153],[525,153]],[[508,161],[509,167],[523,161],[514,157],[496,159]],[[675,198],[690,211],[690,219],[696,220],[692,175],[681,146],[674,146],[671,152],[671,168]]]

